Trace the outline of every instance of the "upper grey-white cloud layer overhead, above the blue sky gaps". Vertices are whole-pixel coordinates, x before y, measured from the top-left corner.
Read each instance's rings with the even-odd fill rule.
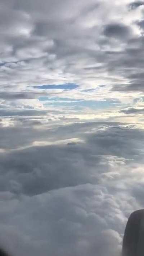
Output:
[[[93,0],[89,3],[62,1],[59,4],[58,1],[47,3],[42,0],[40,5],[35,1],[10,1],[9,4],[3,1],[3,36],[0,42],[2,93],[5,93],[5,88],[11,88],[9,95],[16,92],[16,98],[31,98],[34,86],[77,84],[73,98],[77,95],[86,98],[87,87],[93,89],[98,86],[103,99],[109,90],[115,98],[111,85],[120,82],[126,85],[127,76],[142,63],[143,43],[136,25],[143,20],[142,12],[133,8],[131,12],[135,13],[131,14],[127,9],[127,4],[137,6],[141,3],[125,1],[117,6],[108,1],[96,4]],[[141,44],[140,53],[132,59],[130,49],[134,51],[137,44]],[[132,63],[134,67],[128,72],[127,68]],[[103,84],[107,89],[100,87]],[[22,95],[21,90],[28,87],[31,93]],[[129,86],[127,88],[130,90]],[[93,98],[94,93],[91,90]],[[68,97],[68,91],[63,92],[63,96]],[[37,97],[38,92],[33,93],[33,98]]]

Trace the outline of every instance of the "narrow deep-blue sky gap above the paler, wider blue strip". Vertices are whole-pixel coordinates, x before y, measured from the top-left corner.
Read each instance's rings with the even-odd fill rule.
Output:
[[[64,90],[73,90],[76,89],[78,85],[76,84],[60,84],[60,85],[39,85],[39,86],[33,86],[35,89],[64,89]]]

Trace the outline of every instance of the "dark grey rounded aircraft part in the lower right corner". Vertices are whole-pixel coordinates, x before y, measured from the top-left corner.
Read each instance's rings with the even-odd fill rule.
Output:
[[[132,212],[127,221],[122,256],[144,256],[144,210]]]

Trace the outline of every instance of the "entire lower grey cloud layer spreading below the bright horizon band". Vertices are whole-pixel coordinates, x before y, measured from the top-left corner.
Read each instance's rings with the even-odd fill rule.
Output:
[[[143,129],[87,122],[48,133],[17,125],[1,130],[3,246],[11,237],[6,248],[14,255],[120,255],[127,217],[143,204]],[[52,144],[33,144],[38,135]]]

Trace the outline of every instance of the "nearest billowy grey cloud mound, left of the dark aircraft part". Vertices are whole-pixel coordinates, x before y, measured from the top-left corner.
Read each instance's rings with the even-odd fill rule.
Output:
[[[13,215],[14,210],[12,205],[9,205],[8,209],[13,217],[11,220],[6,218],[7,225],[0,224],[1,230],[3,230],[1,239],[4,240],[5,235],[7,238],[11,237],[11,243],[7,244],[7,248],[15,255],[20,252],[24,255],[24,247],[26,248],[25,252],[35,253],[35,255],[40,252],[42,255],[48,253],[53,255],[64,255],[65,253],[68,255],[73,255],[73,253],[75,255],[80,255],[80,253],[95,255],[95,251],[99,252],[99,255],[104,255],[106,250],[109,256],[114,253],[118,254],[120,253],[121,238],[116,231],[109,230],[111,217],[104,207],[109,205],[113,208],[113,213],[118,211],[121,216],[122,213],[117,210],[114,198],[109,198],[111,203],[107,204],[105,192],[103,188],[87,184],[75,188],[54,190],[32,198],[25,197],[19,203],[13,198],[13,203],[14,201],[18,203],[15,208],[17,213]],[[99,198],[98,203],[96,203],[96,198]],[[90,210],[91,203],[93,203],[93,210]],[[98,205],[103,209],[102,216],[98,211]],[[1,216],[4,220],[4,215],[1,214]],[[113,222],[120,224],[121,219],[116,217]],[[16,230],[14,223],[17,223]],[[6,230],[8,225],[9,230]],[[20,230],[23,230],[25,237]],[[27,238],[28,233],[31,240]],[[112,243],[114,246],[109,246]],[[15,246],[12,247],[11,244],[15,244]],[[33,247],[35,250],[32,250]]]

